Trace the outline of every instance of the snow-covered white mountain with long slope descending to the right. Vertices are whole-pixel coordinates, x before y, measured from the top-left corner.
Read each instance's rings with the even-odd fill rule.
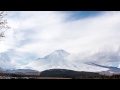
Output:
[[[64,50],[55,50],[44,58],[38,58],[37,60],[30,62],[26,67],[31,67],[38,71],[55,68],[92,72],[108,70],[108,68],[89,65],[81,61],[69,61],[67,58],[69,55],[71,54]]]

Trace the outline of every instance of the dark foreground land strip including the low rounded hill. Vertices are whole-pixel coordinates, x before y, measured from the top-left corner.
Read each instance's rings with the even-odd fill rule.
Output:
[[[39,74],[1,72],[0,79],[120,79],[120,74],[101,75],[94,72],[49,69]]]

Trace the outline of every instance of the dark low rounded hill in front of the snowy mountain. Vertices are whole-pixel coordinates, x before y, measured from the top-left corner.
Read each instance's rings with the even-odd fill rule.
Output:
[[[40,73],[41,77],[80,77],[80,76],[98,76],[99,73],[73,71],[67,69],[49,69]]]

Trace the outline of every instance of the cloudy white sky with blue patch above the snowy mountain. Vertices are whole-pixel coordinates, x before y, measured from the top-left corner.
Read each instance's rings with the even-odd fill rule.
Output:
[[[63,49],[72,60],[120,66],[119,11],[9,11],[0,52],[21,65]]]

